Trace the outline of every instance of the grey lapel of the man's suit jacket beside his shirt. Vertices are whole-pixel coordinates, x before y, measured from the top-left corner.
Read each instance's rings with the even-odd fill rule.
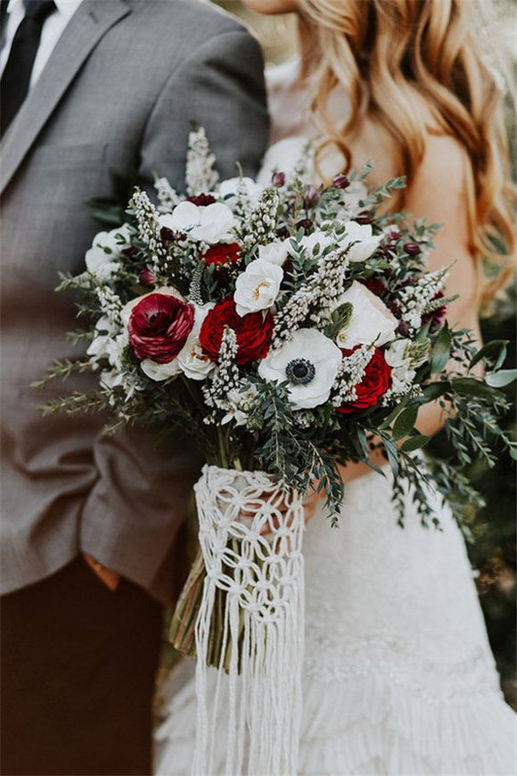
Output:
[[[129,12],[124,0],[83,0],[79,5],[0,144],[0,192],[20,167],[87,56],[104,33]]]

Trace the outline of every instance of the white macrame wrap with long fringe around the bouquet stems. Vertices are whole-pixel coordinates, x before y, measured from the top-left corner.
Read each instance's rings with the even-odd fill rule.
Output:
[[[301,717],[304,531],[300,496],[263,472],[205,466],[195,486],[206,569],[195,627],[197,739],[193,773],[212,773],[216,720],[228,719],[226,773],[294,774]],[[223,599],[217,593],[224,591]],[[214,607],[224,601],[220,665],[229,708],[209,697]]]

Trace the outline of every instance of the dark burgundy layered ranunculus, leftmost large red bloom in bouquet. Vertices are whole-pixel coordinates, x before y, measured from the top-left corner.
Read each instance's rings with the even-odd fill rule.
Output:
[[[192,304],[166,293],[148,293],[131,310],[129,343],[141,361],[168,364],[176,359],[193,327]]]

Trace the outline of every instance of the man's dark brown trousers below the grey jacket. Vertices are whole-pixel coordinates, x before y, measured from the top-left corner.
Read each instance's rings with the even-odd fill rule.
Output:
[[[77,558],[1,603],[3,776],[146,776],[162,609]]]

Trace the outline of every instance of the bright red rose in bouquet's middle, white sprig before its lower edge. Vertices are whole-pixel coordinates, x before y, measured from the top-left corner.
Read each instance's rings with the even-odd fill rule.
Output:
[[[273,316],[259,312],[249,312],[241,317],[235,312],[232,297],[218,301],[209,310],[200,332],[201,350],[216,364],[219,359],[221,340],[226,326],[234,329],[237,335],[237,364],[249,364],[250,361],[264,359],[269,351],[273,335]]]

